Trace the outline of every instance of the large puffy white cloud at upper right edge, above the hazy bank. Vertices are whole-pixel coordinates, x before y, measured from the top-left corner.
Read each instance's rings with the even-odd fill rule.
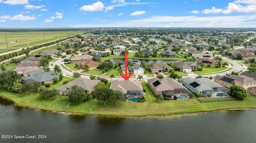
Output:
[[[242,6],[240,4],[228,3],[228,9],[223,14],[230,13],[256,13],[256,5]]]

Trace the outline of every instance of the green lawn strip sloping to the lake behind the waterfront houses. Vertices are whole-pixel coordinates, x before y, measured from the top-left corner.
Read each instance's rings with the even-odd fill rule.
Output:
[[[106,86],[110,86],[108,83]],[[243,101],[231,102],[211,102],[200,103],[195,98],[191,100],[169,100],[157,102],[154,93],[150,90],[146,82],[142,82],[142,86],[146,89],[146,102],[118,102],[115,106],[114,102],[103,102],[93,99],[80,104],[70,104],[66,100],[67,96],[57,96],[56,99],[42,99],[38,92],[33,91],[24,94],[14,94],[8,92],[6,88],[2,88],[0,94],[6,98],[10,98],[17,104],[24,106],[32,106],[43,110],[54,110],[59,112],[76,112],[91,115],[107,115],[107,116],[154,116],[154,115],[172,115],[192,112],[208,112],[220,109],[230,108],[256,108],[256,97],[248,95]],[[52,85],[51,85],[52,88]],[[60,102],[62,97],[62,102]]]

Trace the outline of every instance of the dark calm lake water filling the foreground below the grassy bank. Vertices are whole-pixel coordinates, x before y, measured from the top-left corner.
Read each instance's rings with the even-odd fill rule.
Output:
[[[109,118],[19,108],[0,99],[0,143],[256,143],[256,109],[178,116]]]

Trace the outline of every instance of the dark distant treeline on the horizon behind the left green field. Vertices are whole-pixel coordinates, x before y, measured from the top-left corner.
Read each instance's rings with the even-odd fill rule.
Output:
[[[22,28],[22,29],[0,29],[0,32],[31,32],[31,31],[90,31],[92,28]]]

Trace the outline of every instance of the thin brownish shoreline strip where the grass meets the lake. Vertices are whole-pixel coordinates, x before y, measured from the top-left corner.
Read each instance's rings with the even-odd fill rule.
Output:
[[[36,110],[41,110],[42,112],[52,112],[52,113],[61,113],[61,114],[68,114],[71,116],[108,116],[108,117],[116,117],[116,118],[128,118],[128,117],[148,117],[148,116],[173,116],[173,115],[182,115],[182,114],[192,114],[192,113],[200,113],[200,112],[214,112],[214,111],[220,111],[220,110],[230,110],[230,111],[236,111],[236,110],[247,110],[247,109],[256,109],[256,107],[241,107],[241,108],[221,108],[221,109],[215,109],[215,110],[207,110],[207,111],[194,111],[194,112],[173,112],[173,113],[159,113],[159,114],[148,114],[148,115],[138,115],[138,116],[118,116],[118,115],[108,115],[108,114],[87,114],[87,113],[78,113],[78,112],[65,112],[65,111],[57,111],[57,110],[47,110],[47,109],[42,109],[38,108],[36,106],[28,106],[25,104],[19,104],[11,100],[10,98],[3,96],[0,94],[0,97],[10,100],[13,102],[14,106],[22,107],[22,108],[28,108],[28,109],[36,109]]]

